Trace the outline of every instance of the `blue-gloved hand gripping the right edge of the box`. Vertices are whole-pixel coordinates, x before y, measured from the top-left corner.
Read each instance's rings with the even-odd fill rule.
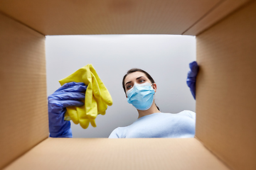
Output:
[[[189,63],[190,70],[188,71],[187,84],[189,89],[191,90],[191,94],[193,98],[196,99],[196,77],[198,74],[198,64],[197,62]]]

